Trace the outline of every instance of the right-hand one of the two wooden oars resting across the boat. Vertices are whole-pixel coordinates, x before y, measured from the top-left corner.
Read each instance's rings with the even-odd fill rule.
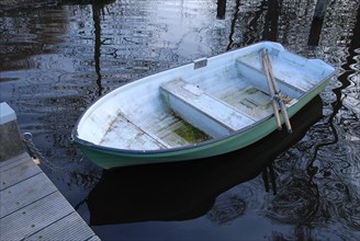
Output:
[[[271,61],[270,61],[270,58],[269,58],[269,55],[268,55],[267,49],[262,49],[261,57],[262,57],[263,69],[266,71],[266,73],[267,73],[268,83],[270,82],[271,85],[272,85],[273,96],[279,102],[279,105],[280,105],[280,108],[281,108],[281,114],[282,114],[282,117],[283,117],[283,119],[285,122],[288,131],[289,133],[292,133],[292,127],[291,127],[291,123],[290,123],[290,119],[289,119],[288,110],[286,110],[284,100],[281,96],[281,91],[280,91],[280,89],[278,87],[278,83],[275,81],[275,78],[273,77],[272,66],[271,66]],[[279,123],[278,123],[278,125],[279,125]]]

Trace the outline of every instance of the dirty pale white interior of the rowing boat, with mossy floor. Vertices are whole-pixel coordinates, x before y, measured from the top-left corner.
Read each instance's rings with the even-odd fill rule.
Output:
[[[288,107],[328,76],[317,60],[277,48],[270,48],[269,56]],[[136,99],[125,90],[113,93],[113,101],[100,103],[102,112],[85,116],[79,137],[117,149],[169,149],[223,138],[270,117],[273,110],[259,50],[220,62],[224,60],[210,60],[199,70],[192,65],[157,77],[155,83],[146,80],[149,84],[137,90]]]

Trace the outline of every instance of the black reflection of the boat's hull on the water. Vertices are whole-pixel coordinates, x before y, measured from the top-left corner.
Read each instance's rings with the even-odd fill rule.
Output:
[[[322,112],[322,99],[316,96],[291,119],[292,134],[283,128],[227,154],[192,162],[104,170],[87,199],[90,225],[201,217],[213,207],[220,194],[261,172],[267,173],[272,161],[296,144],[323,116]],[[265,179],[266,187],[267,184]],[[228,211],[241,214],[244,200],[234,202],[237,207],[227,208]]]

